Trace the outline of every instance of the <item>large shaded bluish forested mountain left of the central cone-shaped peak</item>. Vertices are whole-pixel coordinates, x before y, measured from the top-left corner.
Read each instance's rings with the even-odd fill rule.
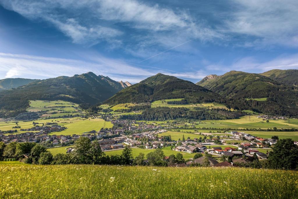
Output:
[[[34,81],[0,92],[0,118],[25,112],[28,100],[65,100],[89,106],[105,101],[122,90],[119,82],[92,72]]]

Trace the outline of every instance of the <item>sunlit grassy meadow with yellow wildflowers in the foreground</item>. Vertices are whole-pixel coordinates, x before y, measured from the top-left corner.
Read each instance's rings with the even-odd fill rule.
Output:
[[[297,198],[298,172],[245,168],[1,165],[0,198]]]

